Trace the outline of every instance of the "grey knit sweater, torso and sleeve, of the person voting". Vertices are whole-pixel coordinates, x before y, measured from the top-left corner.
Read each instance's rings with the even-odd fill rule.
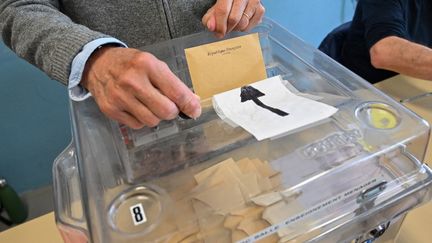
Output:
[[[202,29],[215,0],[0,0],[0,33],[20,57],[67,84],[73,58],[106,36],[141,47]]]

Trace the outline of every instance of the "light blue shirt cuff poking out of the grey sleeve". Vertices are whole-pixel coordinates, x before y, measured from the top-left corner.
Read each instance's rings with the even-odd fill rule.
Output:
[[[127,47],[127,45],[116,38],[99,38],[87,43],[82,51],[72,60],[71,72],[69,75],[69,97],[74,101],[82,101],[91,96],[90,92],[80,85],[84,67],[91,54],[102,45],[118,44]]]

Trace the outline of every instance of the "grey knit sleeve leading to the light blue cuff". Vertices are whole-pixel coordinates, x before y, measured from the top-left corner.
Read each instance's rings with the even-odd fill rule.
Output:
[[[74,23],[60,12],[58,0],[1,0],[0,33],[18,56],[63,84],[83,46],[108,37]]]

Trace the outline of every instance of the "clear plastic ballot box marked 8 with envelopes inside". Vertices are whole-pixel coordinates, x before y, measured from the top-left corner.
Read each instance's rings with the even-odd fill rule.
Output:
[[[71,102],[73,141],[53,168],[66,242],[345,242],[430,200],[424,120],[271,20],[252,32],[268,77],[337,113],[257,141],[209,100],[197,120],[140,130]],[[184,50],[214,41],[144,49],[192,87]]]

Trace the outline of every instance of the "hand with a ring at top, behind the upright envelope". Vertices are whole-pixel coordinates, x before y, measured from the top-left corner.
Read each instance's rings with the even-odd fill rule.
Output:
[[[249,31],[261,23],[264,13],[260,0],[217,0],[202,18],[202,23],[222,38],[233,30]]]

